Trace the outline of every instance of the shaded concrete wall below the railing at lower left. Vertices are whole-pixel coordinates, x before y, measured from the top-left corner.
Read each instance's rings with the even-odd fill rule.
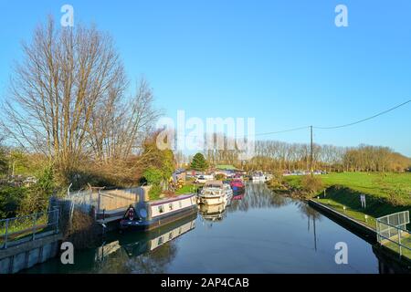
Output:
[[[59,240],[61,235],[50,235],[0,250],[0,274],[14,274],[58,255]]]

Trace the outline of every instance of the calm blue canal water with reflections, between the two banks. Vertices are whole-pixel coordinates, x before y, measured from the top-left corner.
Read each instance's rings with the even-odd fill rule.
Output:
[[[334,246],[348,245],[348,265]],[[105,244],[26,273],[378,273],[372,246],[306,203],[248,183],[226,208],[199,214],[151,233],[117,232]]]

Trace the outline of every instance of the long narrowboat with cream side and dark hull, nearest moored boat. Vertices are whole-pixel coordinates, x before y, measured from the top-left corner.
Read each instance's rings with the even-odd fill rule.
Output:
[[[125,217],[120,221],[121,229],[150,230],[163,224],[169,224],[195,213],[197,204],[195,194],[184,194],[170,199],[137,203],[136,218]]]

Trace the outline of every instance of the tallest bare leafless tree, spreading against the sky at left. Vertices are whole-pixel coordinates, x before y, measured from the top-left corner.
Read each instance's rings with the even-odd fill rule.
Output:
[[[60,29],[51,18],[23,51],[5,101],[5,129],[69,172],[85,154],[94,110],[125,89],[119,55],[95,27]]]

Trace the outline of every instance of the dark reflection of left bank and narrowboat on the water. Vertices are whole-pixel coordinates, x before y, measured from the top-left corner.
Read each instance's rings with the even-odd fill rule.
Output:
[[[174,260],[176,239],[195,229],[197,214],[150,232],[111,232],[100,246],[75,254],[75,265],[62,265],[58,259],[35,266],[26,273],[110,273],[158,274]]]

